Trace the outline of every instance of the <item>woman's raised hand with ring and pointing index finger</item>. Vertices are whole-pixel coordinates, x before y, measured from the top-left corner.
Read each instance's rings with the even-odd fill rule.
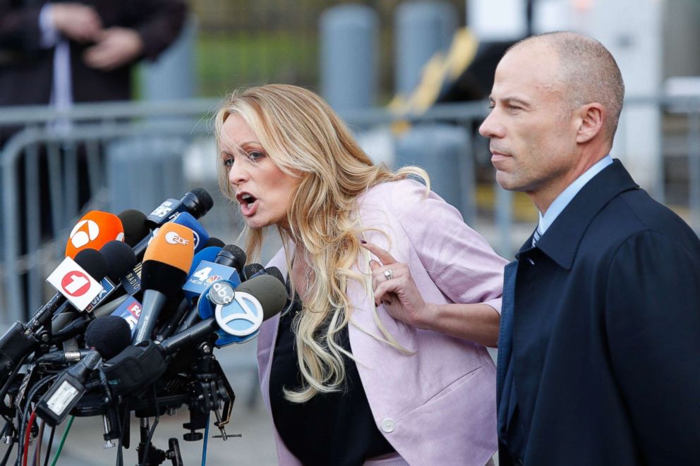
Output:
[[[389,252],[377,245],[362,245],[382,262],[380,264],[374,259],[370,260],[375,305],[383,304],[394,319],[418,328],[426,328],[430,316],[434,314],[434,305],[423,300],[416,282],[411,277],[409,266],[397,262]],[[391,279],[385,276],[387,270],[391,271]]]

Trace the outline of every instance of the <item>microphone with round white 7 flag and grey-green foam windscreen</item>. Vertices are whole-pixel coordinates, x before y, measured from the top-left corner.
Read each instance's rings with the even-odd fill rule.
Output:
[[[129,346],[119,355],[104,362],[102,373],[109,386],[117,393],[137,393],[164,374],[167,370],[167,357],[186,345],[200,343],[216,336],[215,331],[220,328],[219,322],[226,329],[235,327],[237,333],[241,333],[242,327],[234,321],[253,322],[247,329],[253,334],[258,331],[264,319],[280,312],[286,303],[284,286],[270,276],[253,278],[242,283],[239,288],[236,291],[239,299],[232,299],[228,308],[219,312],[220,317],[205,319],[186,331],[166,338],[160,344],[155,341],[143,341],[138,345]]]

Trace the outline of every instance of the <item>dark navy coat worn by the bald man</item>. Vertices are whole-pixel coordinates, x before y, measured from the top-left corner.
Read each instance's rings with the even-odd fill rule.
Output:
[[[700,464],[691,228],[615,161],[517,259],[499,341],[500,465]]]

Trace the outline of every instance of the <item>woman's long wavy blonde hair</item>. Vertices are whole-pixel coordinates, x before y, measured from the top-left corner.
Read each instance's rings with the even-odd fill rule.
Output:
[[[415,166],[393,173],[383,164],[374,165],[330,106],[302,87],[263,85],[233,92],[215,116],[219,145],[222,126],[231,114],[251,127],[280,170],[298,178],[286,214],[289,230],[278,230],[289,270],[289,240],[303,251],[301,257],[313,270],[302,312],[292,323],[303,384],[299,391],[285,389],[288,400],[303,403],[316,393],[342,390],[343,355],[352,357],[337,343],[337,336],[352,312],[346,295],[349,280],[364,283],[363,276],[352,270],[361,254],[363,231],[354,218],[358,196],[373,185],[409,175],[425,180],[427,192],[428,174]],[[235,202],[222,164],[219,185]],[[262,243],[263,228],[248,228],[249,258],[259,257]],[[385,342],[402,350],[376,315],[375,321]]]

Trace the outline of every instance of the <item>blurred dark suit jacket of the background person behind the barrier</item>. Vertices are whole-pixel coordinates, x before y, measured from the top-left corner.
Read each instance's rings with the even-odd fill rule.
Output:
[[[0,0],[0,106],[48,104],[54,49],[40,47],[39,13],[47,1]],[[135,29],[144,53],[155,59],[177,37],[186,15],[181,0],[78,0],[94,7],[103,27]],[[128,63],[111,71],[85,65],[86,44],[71,42],[74,102],[131,99]],[[141,58],[141,57],[140,57]]]

